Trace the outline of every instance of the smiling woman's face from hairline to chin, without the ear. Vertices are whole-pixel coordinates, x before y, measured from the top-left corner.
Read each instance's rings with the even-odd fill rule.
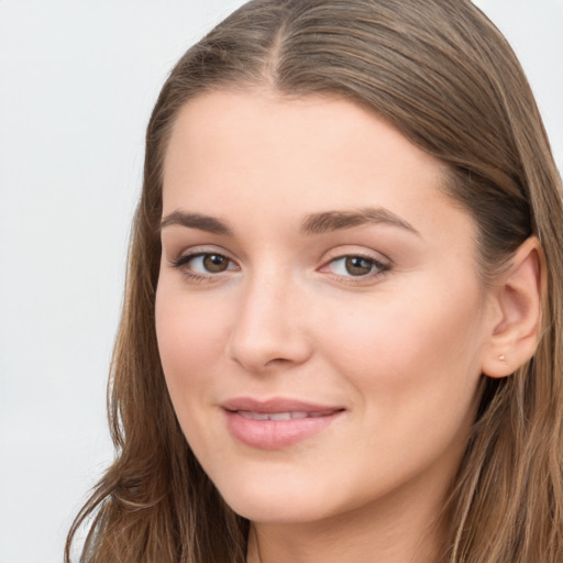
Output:
[[[442,499],[494,317],[444,178],[332,97],[214,92],[180,112],[158,346],[186,438],[236,512],[306,522]]]

